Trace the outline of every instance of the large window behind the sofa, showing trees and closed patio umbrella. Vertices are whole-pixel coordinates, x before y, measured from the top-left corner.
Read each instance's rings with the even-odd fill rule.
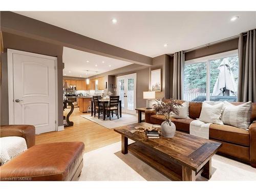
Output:
[[[183,99],[237,101],[238,51],[185,61]]]

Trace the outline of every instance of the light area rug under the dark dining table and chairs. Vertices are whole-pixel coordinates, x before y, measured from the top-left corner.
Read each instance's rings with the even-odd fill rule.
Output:
[[[136,123],[138,121],[138,116],[137,115],[131,115],[127,113],[123,113],[122,117],[117,118],[117,116],[114,115],[114,117],[111,117],[111,120],[109,118],[105,118],[103,120],[103,116],[100,115],[100,118],[91,116],[90,114],[87,115],[80,115],[83,118],[86,118],[90,121],[93,121],[101,126],[104,126],[108,129],[114,129],[119,126],[124,126],[132,123]]]

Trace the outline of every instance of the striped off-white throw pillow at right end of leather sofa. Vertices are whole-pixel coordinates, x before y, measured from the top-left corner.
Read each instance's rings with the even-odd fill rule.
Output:
[[[224,111],[221,116],[221,120],[224,124],[236,126],[241,129],[248,129],[250,126],[251,118],[251,101],[233,105],[227,101],[224,101]]]

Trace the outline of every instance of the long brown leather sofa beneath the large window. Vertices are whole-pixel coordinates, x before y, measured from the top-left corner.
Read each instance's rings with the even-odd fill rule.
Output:
[[[232,104],[239,105],[242,102],[232,102]],[[189,124],[199,118],[201,109],[202,102],[189,102],[189,117],[191,119],[172,118],[176,125],[176,130],[189,133]],[[249,131],[230,125],[211,124],[209,139],[222,143],[219,154],[249,163],[256,168],[256,123],[253,123],[254,120],[256,120],[256,103],[252,103]],[[156,115],[154,110],[145,112],[145,122],[161,124],[163,121],[164,116]]]

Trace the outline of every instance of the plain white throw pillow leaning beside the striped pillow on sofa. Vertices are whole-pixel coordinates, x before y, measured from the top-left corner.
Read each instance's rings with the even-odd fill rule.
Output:
[[[198,120],[205,123],[223,124],[223,122],[220,120],[222,107],[222,102],[215,105],[203,102],[202,111]]]

